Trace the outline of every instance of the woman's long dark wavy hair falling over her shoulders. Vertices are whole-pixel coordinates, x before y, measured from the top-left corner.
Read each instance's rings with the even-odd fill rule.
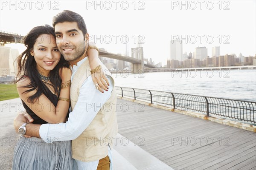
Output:
[[[29,77],[31,83],[29,85],[24,86],[25,88],[29,88],[24,93],[34,91],[37,89],[36,93],[32,96],[29,96],[28,102],[34,103],[41,94],[48,96],[51,96],[51,91],[47,86],[44,84],[44,82],[41,81],[41,79],[38,78],[38,70],[36,68],[36,62],[35,58],[30,54],[30,51],[33,49],[33,46],[39,36],[42,34],[48,34],[55,37],[54,29],[52,26],[45,25],[45,26],[37,26],[33,28],[29,34],[27,34],[24,37],[24,44],[26,46],[26,50],[23,51],[23,53],[20,54],[20,56],[17,57],[17,63],[18,63],[18,73],[17,77],[18,81],[23,79],[24,77]],[[61,87],[61,77],[59,76],[59,68],[66,66],[68,67],[68,62],[64,59],[64,57],[61,55],[61,59],[58,62],[58,64],[55,66],[53,70],[49,73],[49,79],[52,82],[52,87],[54,89],[55,94],[59,96],[60,94],[60,87]],[[16,83],[17,83],[16,82]],[[48,83],[49,84],[49,83]],[[50,84],[49,84],[50,85]]]

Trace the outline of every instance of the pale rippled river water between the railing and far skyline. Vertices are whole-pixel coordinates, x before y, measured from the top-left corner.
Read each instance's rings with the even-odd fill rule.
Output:
[[[256,102],[256,70],[113,74],[115,85]]]

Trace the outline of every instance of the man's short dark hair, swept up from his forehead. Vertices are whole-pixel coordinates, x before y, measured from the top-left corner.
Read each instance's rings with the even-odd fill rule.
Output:
[[[76,12],[64,10],[57,15],[55,15],[52,19],[52,26],[55,28],[57,23],[64,23],[64,22],[76,22],[78,28],[83,32],[84,36],[87,34],[87,28],[84,22],[84,18],[81,15],[77,14]]]

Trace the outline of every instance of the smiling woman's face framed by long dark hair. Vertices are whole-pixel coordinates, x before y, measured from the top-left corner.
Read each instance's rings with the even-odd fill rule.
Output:
[[[37,38],[30,54],[35,58],[38,72],[44,76],[47,76],[61,59],[55,37],[49,34],[42,34]]]

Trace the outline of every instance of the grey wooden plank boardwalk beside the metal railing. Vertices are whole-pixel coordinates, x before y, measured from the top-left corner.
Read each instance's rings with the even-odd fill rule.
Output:
[[[119,133],[175,170],[256,170],[256,133],[118,99]]]

